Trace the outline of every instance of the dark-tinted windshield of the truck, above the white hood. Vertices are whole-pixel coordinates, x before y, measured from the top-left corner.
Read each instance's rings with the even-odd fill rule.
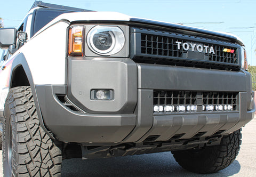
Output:
[[[73,11],[54,10],[54,9],[38,9],[35,14],[33,35],[36,34],[47,23],[58,17],[62,13],[70,13]]]

